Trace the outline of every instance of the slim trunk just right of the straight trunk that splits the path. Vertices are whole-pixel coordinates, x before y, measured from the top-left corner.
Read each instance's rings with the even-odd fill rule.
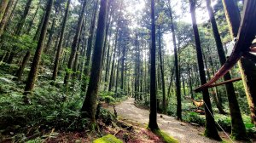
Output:
[[[160,26],[158,26],[158,52],[160,57],[160,74],[161,74],[161,85],[162,85],[162,92],[163,92],[163,112],[166,113],[166,84],[165,84],[165,75],[164,75],[164,68],[163,68],[163,59],[162,59],[162,49],[161,49],[161,33],[160,33]]]

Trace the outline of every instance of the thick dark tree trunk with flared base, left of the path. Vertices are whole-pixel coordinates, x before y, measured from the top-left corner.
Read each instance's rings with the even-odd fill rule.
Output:
[[[96,123],[96,100],[102,73],[102,52],[106,28],[107,3],[108,0],[101,0],[101,8],[96,31],[96,42],[91,64],[90,82],[84,104],[81,109],[82,117],[89,117],[92,124]]]

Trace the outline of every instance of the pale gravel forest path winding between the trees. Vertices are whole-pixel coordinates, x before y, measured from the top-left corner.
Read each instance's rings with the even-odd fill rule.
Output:
[[[137,108],[134,105],[134,99],[129,98],[121,102],[119,105],[115,106],[116,112],[119,117],[131,120],[133,122],[143,124],[146,126],[148,124],[149,112],[148,110],[143,110]],[[174,117],[168,117],[162,114],[157,115],[158,125],[161,130],[166,132],[166,134],[171,135],[181,143],[214,143],[218,142],[216,140],[210,140],[207,137],[201,135],[203,134],[203,128],[195,127],[189,123],[182,123],[177,121]]]

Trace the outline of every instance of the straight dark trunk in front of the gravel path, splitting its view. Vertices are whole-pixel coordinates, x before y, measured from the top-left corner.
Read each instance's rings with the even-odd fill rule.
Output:
[[[148,128],[159,129],[157,125],[157,105],[156,105],[156,72],[155,72],[155,24],[154,24],[154,0],[151,0],[151,68],[150,68],[150,113]]]

